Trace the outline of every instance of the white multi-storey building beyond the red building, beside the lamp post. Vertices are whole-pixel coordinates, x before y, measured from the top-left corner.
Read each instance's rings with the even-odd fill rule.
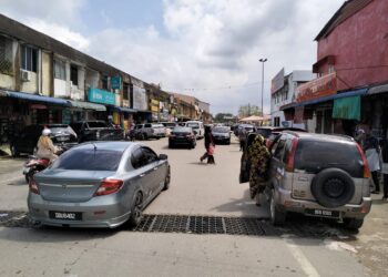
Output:
[[[286,120],[280,106],[289,104],[297,98],[296,88],[316,78],[312,71],[294,70],[285,75],[282,69],[272,80],[270,86],[270,125],[283,127],[306,129],[307,123],[302,120]]]

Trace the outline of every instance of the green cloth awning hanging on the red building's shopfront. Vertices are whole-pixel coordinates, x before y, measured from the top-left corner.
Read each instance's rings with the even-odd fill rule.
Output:
[[[333,107],[333,119],[357,120],[361,119],[361,98],[351,96],[336,99]]]

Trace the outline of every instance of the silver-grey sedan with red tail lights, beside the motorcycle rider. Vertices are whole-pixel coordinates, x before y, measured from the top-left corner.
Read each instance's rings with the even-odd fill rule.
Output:
[[[71,148],[29,184],[30,219],[69,227],[137,225],[142,211],[170,186],[166,155],[132,142]]]

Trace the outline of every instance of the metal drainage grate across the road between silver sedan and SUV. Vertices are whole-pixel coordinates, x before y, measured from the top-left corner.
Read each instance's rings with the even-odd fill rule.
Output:
[[[133,230],[263,236],[269,228],[266,222],[251,217],[144,215]]]

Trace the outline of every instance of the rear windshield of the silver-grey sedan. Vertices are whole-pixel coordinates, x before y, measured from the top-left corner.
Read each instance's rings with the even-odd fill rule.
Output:
[[[52,165],[54,170],[116,171],[122,152],[112,150],[82,148],[65,152]]]

